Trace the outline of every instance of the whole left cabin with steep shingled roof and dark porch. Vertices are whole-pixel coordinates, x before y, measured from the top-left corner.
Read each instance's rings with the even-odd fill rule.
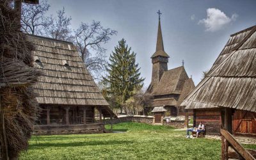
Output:
[[[102,118],[117,118],[109,109],[76,47],[42,36],[28,35],[35,44],[34,65],[42,71],[33,88],[41,108],[36,134],[103,132]],[[95,121],[95,109],[100,120]]]

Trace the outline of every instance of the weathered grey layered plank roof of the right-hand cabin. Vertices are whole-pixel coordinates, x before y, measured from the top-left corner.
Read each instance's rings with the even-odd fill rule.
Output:
[[[182,102],[186,109],[256,112],[256,26],[231,35],[209,74]]]

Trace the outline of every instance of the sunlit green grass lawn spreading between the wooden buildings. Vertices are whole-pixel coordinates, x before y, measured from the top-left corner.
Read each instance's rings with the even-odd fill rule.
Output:
[[[113,129],[127,132],[33,136],[20,159],[220,159],[220,141],[187,139],[172,127],[127,122]]]

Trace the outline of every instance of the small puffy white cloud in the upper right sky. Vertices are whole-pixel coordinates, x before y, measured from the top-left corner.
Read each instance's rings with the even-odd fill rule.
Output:
[[[198,24],[204,24],[206,31],[212,32],[225,28],[238,17],[238,15],[235,13],[230,18],[217,8],[208,8],[206,13],[207,18],[199,20]]]

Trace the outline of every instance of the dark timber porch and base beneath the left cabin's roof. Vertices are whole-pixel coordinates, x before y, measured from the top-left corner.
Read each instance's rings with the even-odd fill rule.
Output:
[[[40,108],[40,118],[33,130],[36,135],[102,133],[105,131],[104,119],[117,118],[102,106],[41,105]]]

